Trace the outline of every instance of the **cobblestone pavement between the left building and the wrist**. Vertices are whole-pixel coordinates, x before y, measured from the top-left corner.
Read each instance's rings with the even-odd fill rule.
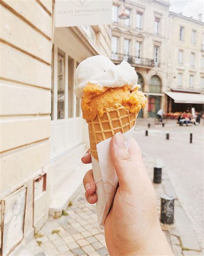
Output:
[[[104,231],[100,230],[96,206],[84,198],[81,187],[73,205],[61,218],[49,219],[35,235],[35,239],[15,254],[16,256],[106,256]]]

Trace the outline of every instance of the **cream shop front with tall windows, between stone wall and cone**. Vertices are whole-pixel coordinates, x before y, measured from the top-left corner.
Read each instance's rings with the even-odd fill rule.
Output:
[[[99,34],[98,28],[97,35]],[[93,27],[55,29],[49,166],[53,173],[53,196],[49,214],[55,218],[67,207],[89,168],[82,166],[80,160],[87,150],[89,138],[87,124],[82,118],[80,99],[74,94],[74,72],[81,61],[97,54],[100,51],[96,46]]]

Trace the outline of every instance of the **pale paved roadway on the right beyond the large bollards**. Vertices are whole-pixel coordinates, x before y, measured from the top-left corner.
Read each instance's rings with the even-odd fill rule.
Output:
[[[202,122],[202,121],[201,121]],[[148,128],[148,123],[151,127]],[[148,136],[145,136],[148,130]],[[170,140],[166,140],[166,133]],[[193,143],[189,143],[190,133]],[[204,144],[203,125],[180,127],[174,120],[155,125],[153,118],[139,118],[133,137],[142,152],[151,157],[162,159],[165,169],[175,189],[176,195],[192,222],[199,242],[202,245],[203,227],[203,166]]]

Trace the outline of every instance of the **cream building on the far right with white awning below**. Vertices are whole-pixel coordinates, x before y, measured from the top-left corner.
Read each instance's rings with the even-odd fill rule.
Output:
[[[204,23],[182,13],[169,13],[167,58],[168,112],[204,104]],[[173,54],[172,54],[173,53]]]

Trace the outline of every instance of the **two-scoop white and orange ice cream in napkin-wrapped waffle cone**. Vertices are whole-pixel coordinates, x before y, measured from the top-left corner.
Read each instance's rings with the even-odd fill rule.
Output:
[[[82,99],[83,118],[89,127],[98,220],[104,227],[118,183],[109,154],[110,138],[121,132],[129,147],[137,115],[145,107],[146,99],[138,90],[134,67],[126,61],[115,65],[100,55],[79,64],[75,85],[75,93]]]

